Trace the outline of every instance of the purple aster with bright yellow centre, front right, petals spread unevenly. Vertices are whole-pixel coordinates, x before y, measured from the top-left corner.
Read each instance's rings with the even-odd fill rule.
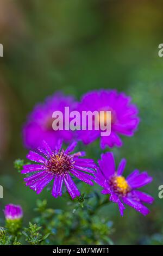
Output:
[[[118,204],[121,216],[123,216],[123,210],[125,209],[123,203],[143,215],[149,214],[148,208],[142,203],[152,204],[154,198],[137,190],[137,188],[145,186],[153,180],[147,172],[139,173],[139,170],[134,170],[125,179],[122,173],[126,166],[126,160],[121,160],[116,171],[112,153],[102,154],[98,164],[99,168],[97,168],[95,181],[104,188],[101,193],[110,194],[110,200]]]

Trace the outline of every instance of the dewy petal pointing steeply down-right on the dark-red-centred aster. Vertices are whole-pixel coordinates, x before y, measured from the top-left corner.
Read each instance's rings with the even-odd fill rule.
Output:
[[[65,182],[67,191],[70,194],[70,196],[72,197],[72,199],[80,196],[80,192],[79,192],[76,184],[74,184],[74,182],[69,174],[64,176],[64,182]]]

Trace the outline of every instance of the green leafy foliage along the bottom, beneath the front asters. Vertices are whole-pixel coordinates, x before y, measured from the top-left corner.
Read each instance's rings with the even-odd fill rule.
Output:
[[[14,222],[10,226],[12,229],[6,223],[5,229],[0,231],[0,245],[72,245],[79,241],[83,245],[112,244],[109,237],[113,231],[112,223],[94,215],[93,209],[87,207],[88,199],[83,194],[70,203],[71,212],[49,209],[46,200],[37,200],[34,210],[38,216],[29,222],[28,227],[16,226],[15,231]]]

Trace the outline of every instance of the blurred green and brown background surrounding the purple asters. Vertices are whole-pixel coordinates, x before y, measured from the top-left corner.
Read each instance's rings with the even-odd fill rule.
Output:
[[[37,198],[53,208],[66,207],[46,190],[37,196],[13,167],[24,159],[21,129],[36,102],[57,90],[80,99],[92,89],[116,88],[133,97],[141,123],[133,138],[114,149],[117,162],[126,157],[126,174],[134,168],[154,177],[146,190],[155,198],[151,214],[127,208],[120,217],[108,204],[99,216],[109,216],[115,244],[163,244],[163,42],[162,1],[0,0],[0,222],[4,205],[21,204],[28,222]],[[90,145],[90,154],[99,150]]]

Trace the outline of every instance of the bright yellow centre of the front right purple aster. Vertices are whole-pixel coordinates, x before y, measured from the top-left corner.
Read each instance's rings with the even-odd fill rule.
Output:
[[[113,176],[109,181],[109,185],[119,196],[125,196],[130,191],[130,186],[123,176]]]

